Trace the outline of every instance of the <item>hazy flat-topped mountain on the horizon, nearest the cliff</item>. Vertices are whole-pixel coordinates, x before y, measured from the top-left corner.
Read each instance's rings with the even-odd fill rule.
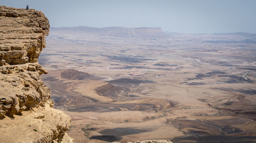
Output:
[[[160,27],[51,27],[54,32],[66,32],[76,34],[91,34],[95,36],[109,36],[109,37],[131,37],[131,38],[163,38],[165,33]]]

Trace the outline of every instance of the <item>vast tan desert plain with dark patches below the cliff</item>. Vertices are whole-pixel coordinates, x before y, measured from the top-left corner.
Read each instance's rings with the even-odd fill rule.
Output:
[[[51,28],[39,64],[76,142],[256,142],[256,34]]]

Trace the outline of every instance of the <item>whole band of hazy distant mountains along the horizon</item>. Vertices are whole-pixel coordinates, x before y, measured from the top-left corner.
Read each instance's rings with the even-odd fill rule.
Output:
[[[180,37],[201,37],[208,38],[208,43],[255,43],[256,34],[249,33],[213,33],[213,34],[183,34],[173,32],[163,32],[160,27],[51,27],[48,39],[66,41],[96,40],[102,38],[135,38],[135,39],[175,39]],[[238,40],[239,39],[239,40]]]

